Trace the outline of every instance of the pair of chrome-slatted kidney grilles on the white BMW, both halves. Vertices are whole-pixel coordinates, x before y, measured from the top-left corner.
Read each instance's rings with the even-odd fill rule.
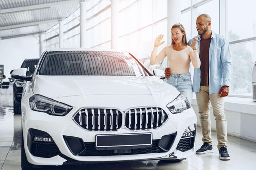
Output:
[[[134,108],[125,112],[125,126],[130,130],[145,130],[160,127],[168,116],[158,107]],[[73,120],[84,129],[115,131],[122,126],[122,112],[118,109],[83,108]]]

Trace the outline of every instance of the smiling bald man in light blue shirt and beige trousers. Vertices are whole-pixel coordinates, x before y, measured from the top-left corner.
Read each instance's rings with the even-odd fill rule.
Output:
[[[227,121],[224,113],[224,98],[229,93],[231,80],[231,54],[229,43],[223,36],[211,30],[211,17],[201,14],[197,17],[197,49],[201,67],[194,69],[192,89],[196,92],[197,105],[204,142],[196,154],[212,153],[211,121],[209,101],[215,116],[220,160],[230,160],[227,151]],[[191,44],[192,40],[189,41]],[[170,77],[170,70],[165,70]]]

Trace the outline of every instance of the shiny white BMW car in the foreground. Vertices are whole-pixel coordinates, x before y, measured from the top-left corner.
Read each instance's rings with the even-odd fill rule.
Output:
[[[130,53],[45,51],[23,88],[23,169],[97,161],[168,159],[195,152],[187,98]]]

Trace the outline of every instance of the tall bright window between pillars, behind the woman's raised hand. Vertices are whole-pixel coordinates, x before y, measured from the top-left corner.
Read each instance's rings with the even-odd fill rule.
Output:
[[[153,42],[159,34],[164,35],[162,46],[166,45],[167,0],[119,0],[119,6],[120,49],[141,59],[150,57]]]

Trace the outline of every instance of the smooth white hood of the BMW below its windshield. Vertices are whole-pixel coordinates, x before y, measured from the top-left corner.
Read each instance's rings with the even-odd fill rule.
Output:
[[[78,95],[166,95],[179,92],[155,76],[36,76],[34,94],[49,98]]]

